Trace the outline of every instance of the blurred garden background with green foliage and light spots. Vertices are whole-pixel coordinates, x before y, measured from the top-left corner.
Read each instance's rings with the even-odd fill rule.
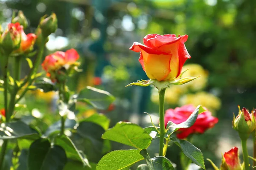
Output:
[[[150,125],[143,112],[158,122],[157,91],[152,87],[125,88],[130,82],[147,79],[139,54],[129,50],[133,42],[142,42],[145,35],[153,33],[188,34],[185,45],[192,58],[183,68],[189,68],[184,77],[201,77],[169,88],[166,109],[201,104],[219,118],[214,128],[193,136],[192,143],[205,159],[218,164],[222,153],[240,146],[232,129],[233,113],[237,115],[237,105],[256,108],[255,0],[0,0],[3,28],[14,10],[22,10],[29,20],[25,32],[34,32],[40,17],[55,12],[58,29],[49,37],[45,56],[69,48],[79,51],[83,71],[69,80],[69,86],[73,91],[96,86],[113,94],[116,100],[108,111],[98,111],[108,116],[111,126],[118,121]],[[29,71],[26,63],[22,70],[25,76]],[[46,130],[56,120],[52,116],[56,97],[54,92],[34,91],[26,96],[26,109],[20,114],[27,115],[23,117],[26,121],[42,118],[34,123]],[[83,116],[96,112],[84,105],[80,108]],[[84,142],[79,144],[83,150]],[[157,153],[155,146],[151,154]],[[111,150],[122,148],[126,147],[111,143]],[[178,162],[179,155],[173,150],[166,157]],[[90,150],[84,152],[90,161],[102,157]],[[207,161],[206,167],[211,168]]]

